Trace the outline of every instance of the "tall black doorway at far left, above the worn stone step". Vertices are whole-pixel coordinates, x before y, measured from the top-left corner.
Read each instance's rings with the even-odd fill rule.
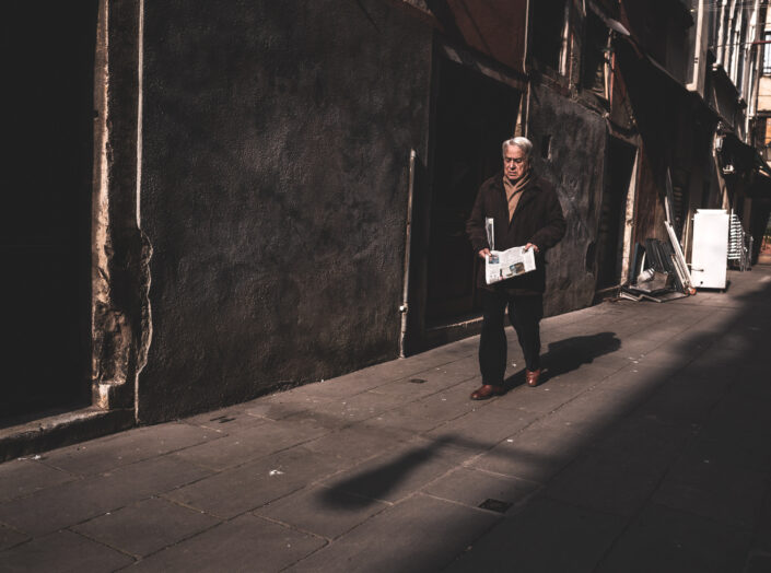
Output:
[[[90,402],[91,190],[98,3],[4,14],[0,419]],[[10,13],[9,13],[10,12]]]

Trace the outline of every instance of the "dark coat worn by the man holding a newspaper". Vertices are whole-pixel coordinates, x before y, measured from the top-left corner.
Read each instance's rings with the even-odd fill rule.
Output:
[[[474,253],[490,248],[484,232],[484,219],[492,217],[495,221],[495,250],[533,243],[538,246],[536,270],[513,277],[495,284],[484,282],[484,265],[479,265],[477,284],[488,290],[504,290],[509,294],[540,294],[546,290],[546,253],[553,247],[565,233],[565,220],[562,207],[551,184],[533,176],[522,191],[522,197],[509,222],[509,204],[503,188],[503,174],[498,173],[486,180],[479,188],[471,217],[466,222],[466,233],[471,239]]]

